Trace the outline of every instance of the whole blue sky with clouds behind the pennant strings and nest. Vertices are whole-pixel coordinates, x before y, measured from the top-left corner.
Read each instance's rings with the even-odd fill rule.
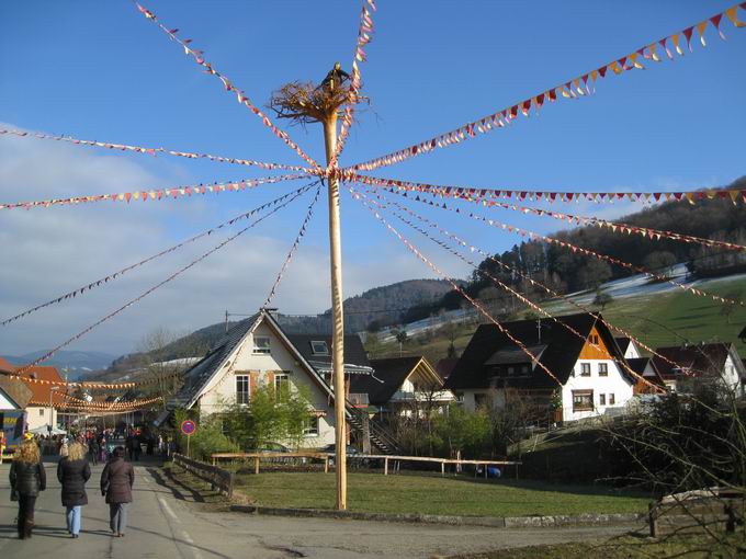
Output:
[[[150,1],[151,9],[255,103],[291,80],[320,80],[334,61],[349,69],[359,2]],[[730,5],[721,1],[450,2],[380,1],[375,36],[362,66],[371,106],[359,115],[342,164],[449,130],[508,106]],[[744,11],[739,12],[746,20]],[[645,71],[599,82],[597,93],[545,106],[510,129],[438,150],[376,174],[437,183],[545,190],[676,190],[727,184],[744,174],[746,32],[728,21],[722,42]],[[80,138],[297,163],[301,160],[246,109],[200,71],[178,45],[125,0],[3,2],[0,5],[0,122]],[[318,125],[289,127],[321,159]],[[41,140],[0,140],[3,202],[259,176],[242,167],[118,155]],[[297,184],[299,185],[299,184]],[[296,186],[297,186],[296,185]],[[0,315],[15,313],[149,255],[182,237],[265,202],[289,186],[148,207],[58,207],[4,213]],[[284,259],[305,204],[226,247],[74,345],[133,350],[149,330],[179,331],[219,320],[226,309],[261,304]],[[560,206],[558,206],[560,207]],[[570,206],[619,215],[632,206]],[[519,238],[439,216],[490,251]],[[502,214],[542,232],[558,223]],[[287,312],[329,306],[326,204],[281,288]],[[346,295],[431,276],[346,196]],[[487,235],[485,235],[487,232]],[[415,240],[414,235],[411,236]],[[0,332],[0,352],[18,354],[63,341],[126,298],[189,262],[208,240],[88,298],[39,312]],[[419,239],[417,242],[423,244]],[[423,244],[427,252],[432,249]],[[468,273],[444,256],[454,275]],[[7,267],[7,263],[13,262]],[[296,265],[297,264],[297,265]],[[105,293],[104,293],[105,292]],[[162,322],[166,322],[165,324]]]

